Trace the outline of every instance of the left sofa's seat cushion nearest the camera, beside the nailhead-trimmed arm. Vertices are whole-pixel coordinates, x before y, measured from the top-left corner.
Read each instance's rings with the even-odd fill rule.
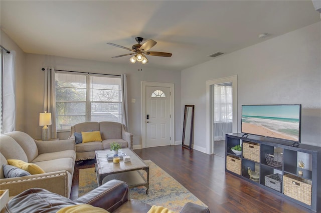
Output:
[[[45,160],[34,162],[36,165],[40,166],[45,172],[61,171],[66,170],[70,174],[74,172],[74,160],[70,157]]]

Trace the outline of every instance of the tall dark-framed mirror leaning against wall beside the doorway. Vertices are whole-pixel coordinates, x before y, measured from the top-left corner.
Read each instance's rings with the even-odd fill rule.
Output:
[[[193,122],[194,105],[185,105],[182,146],[188,149],[192,147]]]

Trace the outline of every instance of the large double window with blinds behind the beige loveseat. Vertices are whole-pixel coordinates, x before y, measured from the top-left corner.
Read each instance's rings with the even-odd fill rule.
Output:
[[[57,131],[86,121],[122,121],[120,77],[55,73]]]

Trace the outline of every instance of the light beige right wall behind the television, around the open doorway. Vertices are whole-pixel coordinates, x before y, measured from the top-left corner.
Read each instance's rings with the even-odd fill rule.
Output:
[[[321,146],[321,22],[182,71],[182,107],[195,104],[200,150],[206,150],[206,81],[233,75],[239,132],[242,104],[302,104],[301,141]]]

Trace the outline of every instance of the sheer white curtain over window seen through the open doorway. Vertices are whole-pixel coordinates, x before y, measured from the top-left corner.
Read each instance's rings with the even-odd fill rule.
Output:
[[[233,96],[232,83],[214,85],[214,140],[225,140],[232,132]]]

